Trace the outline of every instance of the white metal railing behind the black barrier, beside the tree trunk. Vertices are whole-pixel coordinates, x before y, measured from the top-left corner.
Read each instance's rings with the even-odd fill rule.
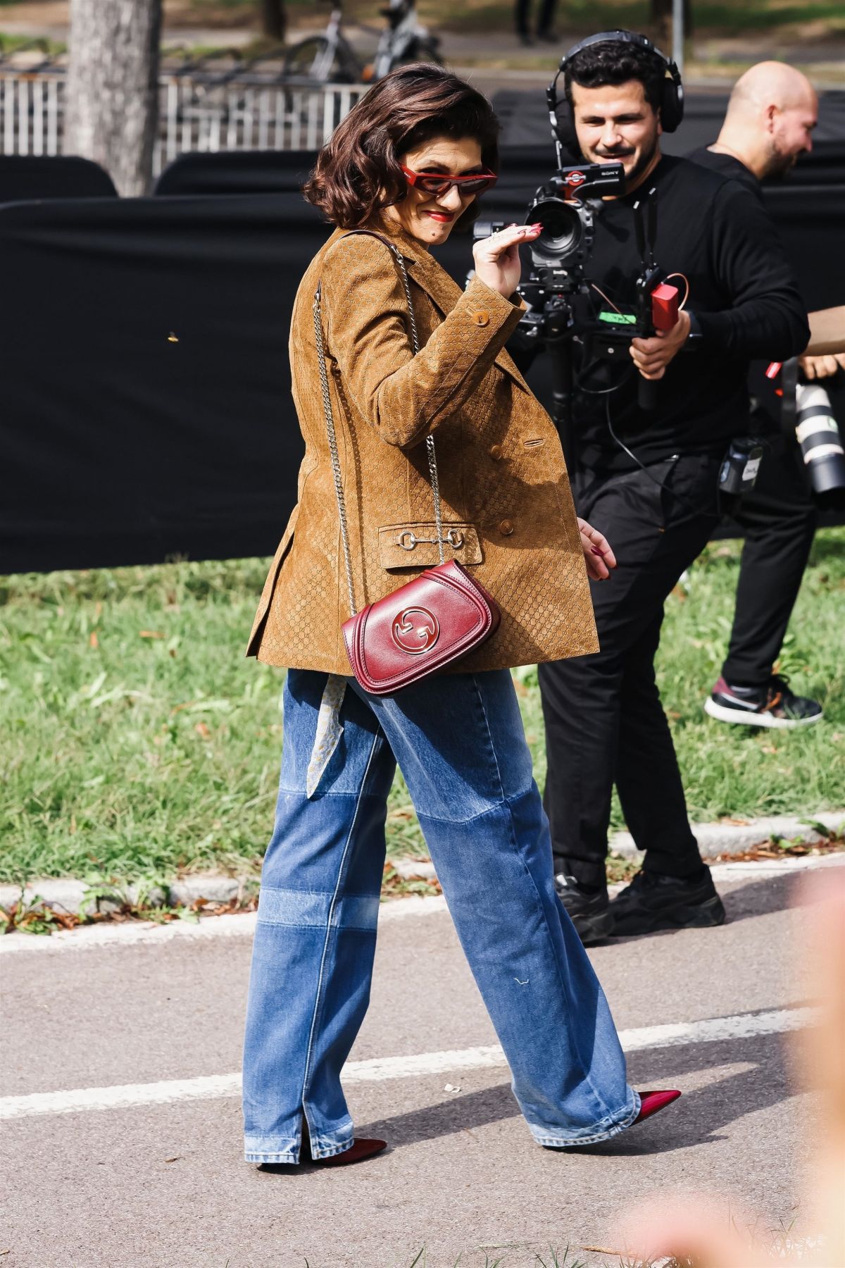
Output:
[[[62,153],[65,84],[63,67],[6,70],[0,61],[0,153]],[[153,174],[196,150],[317,150],[366,89],[238,66],[223,74],[165,71]]]

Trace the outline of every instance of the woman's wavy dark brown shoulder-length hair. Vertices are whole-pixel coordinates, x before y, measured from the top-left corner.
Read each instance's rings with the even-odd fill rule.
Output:
[[[399,156],[435,137],[474,137],[481,161],[499,170],[499,120],[474,87],[442,66],[400,66],[379,80],[317,156],[303,193],[342,230],[367,224],[405,197]],[[478,199],[461,224],[478,216]]]

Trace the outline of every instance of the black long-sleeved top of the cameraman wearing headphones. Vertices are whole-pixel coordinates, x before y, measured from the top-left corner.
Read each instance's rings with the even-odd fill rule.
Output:
[[[722,156],[713,156],[722,157]],[[698,337],[677,354],[658,383],[658,406],[637,404],[639,374],[619,363],[581,358],[576,366],[575,432],[580,465],[631,470],[609,422],[641,463],[675,453],[721,455],[747,426],[746,377],[754,358],[787,360],[810,339],[804,306],[783,247],[758,197],[735,180],[685,158],[663,156],[633,194],[598,204],[587,275],[619,307],[636,304],[640,256],[632,204],[656,189],[655,259],[689,281],[687,308]],[[673,279],[680,288],[684,283]],[[593,312],[606,308],[593,292]],[[630,360],[627,350],[621,358]],[[618,384],[618,387],[616,387]],[[606,394],[589,394],[616,387]]]

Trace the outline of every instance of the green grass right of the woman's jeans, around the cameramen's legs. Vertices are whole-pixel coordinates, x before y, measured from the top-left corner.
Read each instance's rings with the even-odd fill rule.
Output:
[[[793,690],[825,706],[825,721],[803,730],[726,727],[702,709],[727,648],[741,541],[711,544],[669,597],[658,677],[693,820],[845,806],[844,548],[845,530],[818,534],[779,662]],[[521,702],[542,784],[536,671],[518,672],[528,687]],[[616,798],[611,825],[625,827]]]

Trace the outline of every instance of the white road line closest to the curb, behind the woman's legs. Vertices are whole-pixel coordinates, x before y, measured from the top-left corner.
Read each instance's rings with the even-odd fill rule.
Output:
[[[715,864],[711,875],[715,881],[728,884],[739,880],[770,880],[792,872],[816,867],[841,867],[842,855],[807,855],[803,858],[774,858],[765,862]],[[623,885],[612,885],[616,894]],[[416,915],[440,915],[447,912],[442,895],[432,898],[397,898],[383,903],[379,909],[379,924],[403,921]],[[181,940],[252,937],[255,933],[255,912],[232,915],[208,915],[198,924],[174,921],[168,924],[152,924],[138,921],[127,924],[84,924],[77,929],[62,929],[44,937],[32,933],[6,933],[0,937],[0,955],[44,951],[85,951],[94,947],[127,947],[151,942],[174,942]]]

